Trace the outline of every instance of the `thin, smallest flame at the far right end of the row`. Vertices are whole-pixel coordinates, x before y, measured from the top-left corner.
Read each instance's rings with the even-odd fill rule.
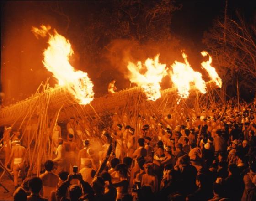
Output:
[[[209,55],[208,52],[206,52],[206,51],[201,52],[201,54],[203,55],[203,57],[205,57],[207,55],[209,56],[209,60],[206,61],[206,62],[202,62],[201,66],[208,72],[209,76],[219,86],[219,88],[221,88],[222,87],[222,80],[219,77],[218,73],[216,72],[216,69],[211,66],[211,63],[212,63],[211,55]]]

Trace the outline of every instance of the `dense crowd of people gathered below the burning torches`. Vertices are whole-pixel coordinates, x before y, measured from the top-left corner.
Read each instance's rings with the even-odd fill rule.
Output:
[[[14,174],[13,198],[255,201],[255,103],[216,103],[182,121],[171,110],[160,119],[139,115],[133,126],[114,113],[112,127],[99,131],[100,143],[86,139],[82,124],[71,118],[67,139],[58,125],[53,129],[55,157],[39,177],[26,178],[26,151],[15,131],[5,160]]]

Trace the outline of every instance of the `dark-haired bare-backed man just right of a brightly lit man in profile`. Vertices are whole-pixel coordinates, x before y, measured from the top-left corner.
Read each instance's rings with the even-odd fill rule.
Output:
[[[73,165],[76,164],[76,153],[75,151],[79,151],[77,147],[77,143],[73,142],[74,135],[68,134],[68,141],[63,142],[63,145],[66,150],[66,171],[70,172],[70,165],[73,167]]]

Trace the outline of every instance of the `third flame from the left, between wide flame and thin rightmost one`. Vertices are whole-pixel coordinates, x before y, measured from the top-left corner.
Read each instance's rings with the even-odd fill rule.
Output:
[[[188,98],[191,83],[194,83],[201,93],[206,93],[206,84],[202,79],[202,74],[192,69],[185,53],[182,53],[182,57],[185,63],[175,61],[171,65],[172,72],[169,72],[180,98]]]

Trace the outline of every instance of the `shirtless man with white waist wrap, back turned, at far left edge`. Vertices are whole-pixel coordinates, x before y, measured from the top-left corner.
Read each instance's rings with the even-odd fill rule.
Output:
[[[18,187],[18,174],[19,170],[21,170],[22,180],[25,179],[25,147],[21,146],[21,142],[19,140],[13,141],[13,147],[11,149],[11,155],[8,162],[5,164],[6,166],[13,159],[13,177],[14,177],[14,186]]]

